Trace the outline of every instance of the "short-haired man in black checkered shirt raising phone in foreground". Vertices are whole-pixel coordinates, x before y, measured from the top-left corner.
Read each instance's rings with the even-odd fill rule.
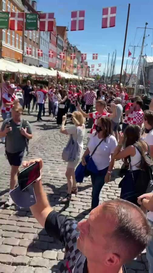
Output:
[[[42,159],[25,161],[24,167]],[[34,183],[37,203],[30,207],[33,216],[53,232],[65,246],[61,273],[125,273],[123,264],[134,259],[148,244],[151,228],[144,213],[121,199],[110,200],[90,212],[88,219],[77,223],[53,211],[43,190],[41,176]]]

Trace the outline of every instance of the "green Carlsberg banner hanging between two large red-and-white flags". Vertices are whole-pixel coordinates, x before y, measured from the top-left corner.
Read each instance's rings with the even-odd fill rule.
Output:
[[[38,30],[38,15],[25,13],[25,30]]]

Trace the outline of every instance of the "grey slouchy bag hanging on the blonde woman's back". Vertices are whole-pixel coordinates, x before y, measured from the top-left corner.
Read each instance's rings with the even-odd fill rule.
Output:
[[[78,135],[78,129],[77,129]],[[69,141],[66,147],[63,149],[62,159],[66,162],[75,162],[77,158],[77,154],[79,151],[79,144],[77,140],[73,140],[72,135],[70,135]]]

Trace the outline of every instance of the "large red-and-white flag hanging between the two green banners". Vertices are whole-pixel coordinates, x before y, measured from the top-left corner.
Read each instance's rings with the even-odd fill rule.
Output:
[[[10,30],[23,30],[24,12],[10,12]]]

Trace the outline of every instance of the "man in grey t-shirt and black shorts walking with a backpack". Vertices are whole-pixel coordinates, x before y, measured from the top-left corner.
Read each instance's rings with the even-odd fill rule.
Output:
[[[11,165],[10,190],[17,184],[19,166],[22,163],[28,140],[32,138],[32,130],[28,121],[21,118],[22,106],[17,102],[12,108],[12,118],[5,119],[0,129],[0,137],[5,137],[5,154]],[[5,206],[13,204],[9,196]]]

